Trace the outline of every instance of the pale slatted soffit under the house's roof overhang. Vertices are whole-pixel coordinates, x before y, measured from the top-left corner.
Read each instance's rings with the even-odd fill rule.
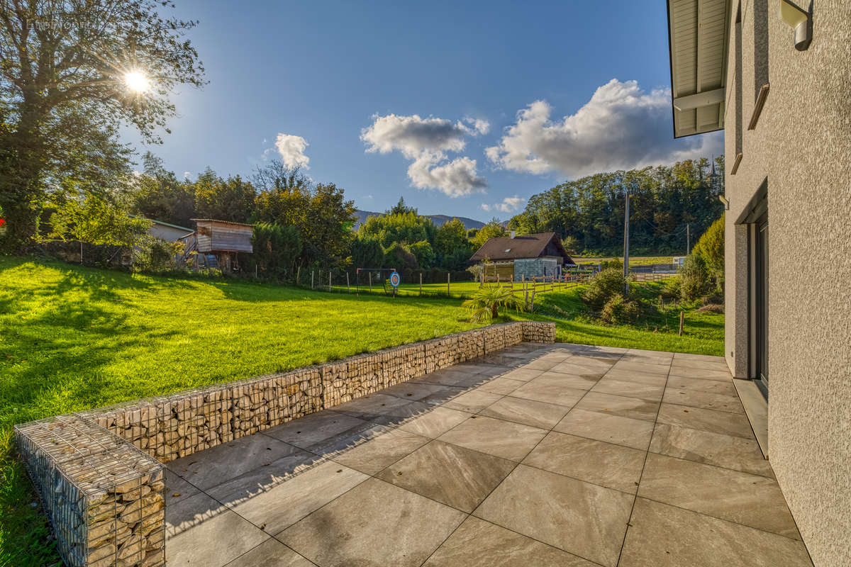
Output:
[[[668,0],[674,138],[724,128],[729,0]]]

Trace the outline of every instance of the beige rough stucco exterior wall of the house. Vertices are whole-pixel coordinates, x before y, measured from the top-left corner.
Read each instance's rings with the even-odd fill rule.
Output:
[[[814,0],[803,52],[779,3],[768,0],[770,93],[757,128],[744,132],[736,175],[729,50],[727,358],[746,375],[745,231],[733,222],[768,178],[768,456],[814,564],[851,565],[851,2]],[[754,106],[753,6],[741,0],[744,128]],[[732,47],[734,18],[731,28]]]

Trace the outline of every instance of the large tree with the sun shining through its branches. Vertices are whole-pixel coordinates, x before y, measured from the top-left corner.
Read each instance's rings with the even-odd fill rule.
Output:
[[[156,143],[174,115],[174,87],[203,84],[203,66],[184,37],[196,22],[163,17],[162,6],[168,3],[0,0],[0,115],[9,125],[0,129],[4,249],[36,235],[62,179],[106,187],[128,173],[121,124]],[[151,77],[150,88],[129,89],[130,72]]]

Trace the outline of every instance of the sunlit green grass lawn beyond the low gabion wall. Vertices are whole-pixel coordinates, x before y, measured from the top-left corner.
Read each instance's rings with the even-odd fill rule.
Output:
[[[465,293],[477,289],[474,282],[457,286]],[[654,297],[657,287],[637,290]],[[559,341],[722,354],[723,315],[689,309],[683,337],[677,337],[673,310],[638,326],[601,326],[587,318],[578,291],[541,293],[539,313],[511,316],[555,321]],[[473,326],[458,299],[357,297],[0,257],[0,566],[58,561],[14,458],[14,423]]]

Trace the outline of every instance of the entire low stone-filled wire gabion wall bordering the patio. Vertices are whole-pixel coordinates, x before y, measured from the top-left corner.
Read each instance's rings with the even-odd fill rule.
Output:
[[[512,322],[319,366],[15,427],[66,564],[165,564],[164,462],[526,342],[556,326]]]

